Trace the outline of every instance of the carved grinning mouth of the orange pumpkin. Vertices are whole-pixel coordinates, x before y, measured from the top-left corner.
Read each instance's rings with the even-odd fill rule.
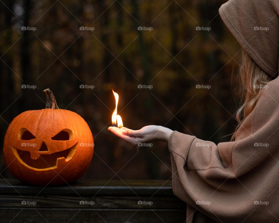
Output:
[[[72,159],[76,151],[77,144],[78,143],[73,145],[71,148],[68,148],[60,152],[55,152],[51,154],[40,154],[40,157],[38,159],[32,159],[29,151],[19,150],[14,146],[12,146],[12,150],[20,162],[24,163],[25,165],[31,168],[53,169],[57,168],[57,162],[59,158],[65,158],[66,161]]]

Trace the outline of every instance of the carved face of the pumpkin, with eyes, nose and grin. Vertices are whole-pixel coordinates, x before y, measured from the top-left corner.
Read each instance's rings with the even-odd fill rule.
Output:
[[[63,129],[52,137],[45,133],[36,138],[34,134],[22,128],[16,143],[12,142],[12,151],[23,165],[37,169],[57,168],[60,161],[69,161],[76,151],[78,142],[70,129]]]

